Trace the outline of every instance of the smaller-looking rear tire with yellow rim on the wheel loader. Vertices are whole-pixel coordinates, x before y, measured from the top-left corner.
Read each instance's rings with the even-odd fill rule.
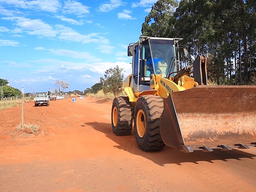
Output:
[[[130,135],[132,131],[133,109],[127,97],[117,97],[113,100],[111,123],[116,135]]]

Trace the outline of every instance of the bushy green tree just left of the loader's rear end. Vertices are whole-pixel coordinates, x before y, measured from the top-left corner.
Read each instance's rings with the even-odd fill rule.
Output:
[[[119,68],[118,65],[114,68],[109,68],[105,71],[104,77],[100,77],[100,83],[103,84],[103,92],[112,92],[117,97],[118,88],[122,87],[124,79],[124,69]]]

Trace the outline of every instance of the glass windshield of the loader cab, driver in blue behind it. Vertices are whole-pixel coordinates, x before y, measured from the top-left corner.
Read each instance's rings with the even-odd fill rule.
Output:
[[[161,74],[167,77],[169,73],[177,71],[174,65],[174,41],[149,39],[143,45],[142,59],[145,60],[145,76]]]

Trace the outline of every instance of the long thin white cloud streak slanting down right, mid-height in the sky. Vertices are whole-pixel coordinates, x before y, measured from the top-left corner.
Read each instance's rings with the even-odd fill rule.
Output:
[[[36,47],[35,50],[45,50],[55,55],[67,56],[75,59],[85,59],[87,62],[101,61],[101,59],[95,58],[94,56],[90,55],[89,52],[76,52],[67,49],[45,49],[44,47]]]

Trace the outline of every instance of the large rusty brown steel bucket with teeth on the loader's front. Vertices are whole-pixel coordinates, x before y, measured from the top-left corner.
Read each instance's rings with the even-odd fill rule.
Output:
[[[197,85],[164,99],[160,132],[184,152],[256,146],[256,86]]]

